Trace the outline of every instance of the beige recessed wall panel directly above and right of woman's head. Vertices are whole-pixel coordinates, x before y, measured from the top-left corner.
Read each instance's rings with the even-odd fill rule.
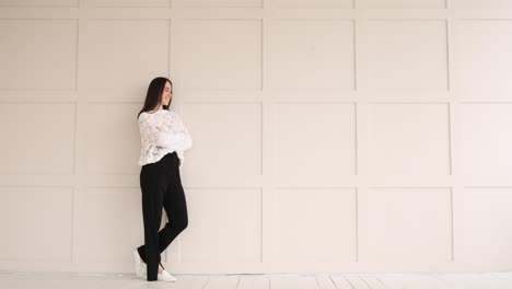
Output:
[[[261,89],[260,21],[181,21],[173,32],[173,71],[179,86],[228,91]]]

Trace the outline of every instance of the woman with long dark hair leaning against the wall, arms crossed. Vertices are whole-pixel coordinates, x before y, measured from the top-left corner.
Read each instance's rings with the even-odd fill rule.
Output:
[[[143,278],[146,271],[148,281],[176,280],[162,266],[160,254],[188,226],[179,167],[184,151],[191,148],[193,140],[179,116],[170,111],[172,95],[171,80],[153,79],[138,116],[144,245],[133,250],[133,256],[137,276]],[[159,232],[162,207],[170,221]]]

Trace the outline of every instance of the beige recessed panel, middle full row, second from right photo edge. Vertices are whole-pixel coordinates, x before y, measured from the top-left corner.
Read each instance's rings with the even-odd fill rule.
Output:
[[[371,175],[426,177],[450,174],[446,104],[371,104],[368,164]]]

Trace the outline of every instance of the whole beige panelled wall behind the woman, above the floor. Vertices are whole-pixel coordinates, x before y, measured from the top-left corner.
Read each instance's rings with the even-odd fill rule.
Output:
[[[0,270],[132,270],[156,76],[172,271],[510,270],[511,35],[510,0],[0,0]]]

